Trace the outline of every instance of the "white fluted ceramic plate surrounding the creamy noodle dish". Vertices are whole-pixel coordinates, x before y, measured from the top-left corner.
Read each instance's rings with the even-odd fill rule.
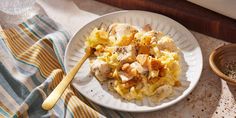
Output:
[[[162,31],[170,35],[180,48],[180,54],[182,56],[182,72],[180,77],[182,87],[176,88],[175,94],[158,104],[152,103],[148,99],[144,99],[143,101],[125,101],[116,93],[108,91],[105,85],[101,85],[97,79],[90,74],[90,65],[87,60],[73,81],[73,86],[82,95],[99,105],[111,109],[129,112],[145,112],[159,110],[173,105],[186,97],[193,90],[198,83],[203,66],[202,53],[198,42],[184,26],[176,21],[160,14],[145,11],[120,11],[110,13],[93,20],[81,28],[70,40],[66,49],[64,61],[67,72],[84,55],[84,42],[90,32],[95,27],[99,27],[101,23],[103,23],[104,26],[108,26],[114,22],[129,23],[140,27],[150,24],[154,30]]]

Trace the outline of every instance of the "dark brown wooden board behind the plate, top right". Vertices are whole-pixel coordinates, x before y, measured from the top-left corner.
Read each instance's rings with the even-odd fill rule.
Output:
[[[236,20],[184,0],[97,0],[122,9],[166,15],[185,27],[236,43]],[[214,3],[213,3],[214,4]],[[236,11],[234,11],[236,12]]]

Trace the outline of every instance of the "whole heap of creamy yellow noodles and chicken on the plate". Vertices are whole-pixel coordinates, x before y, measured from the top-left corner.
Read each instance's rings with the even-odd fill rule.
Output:
[[[150,25],[114,23],[108,29],[95,28],[86,45],[96,50],[91,72],[126,100],[150,97],[160,102],[181,86],[178,48],[171,37]]]

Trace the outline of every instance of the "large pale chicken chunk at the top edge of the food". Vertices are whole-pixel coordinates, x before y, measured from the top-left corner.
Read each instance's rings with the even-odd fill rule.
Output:
[[[109,27],[109,39],[118,46],[127,46],[138,30],[129,24],[114,23]]]

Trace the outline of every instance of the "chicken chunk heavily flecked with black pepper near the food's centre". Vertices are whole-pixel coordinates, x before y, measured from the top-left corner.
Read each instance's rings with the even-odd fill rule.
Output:
[[[136,57],[136,50],[135,50],[135,47],[132,45],[117,46],[115,47],[113,53],[118,54],[117,59],[121,61],[122,63],[133,61]]]

